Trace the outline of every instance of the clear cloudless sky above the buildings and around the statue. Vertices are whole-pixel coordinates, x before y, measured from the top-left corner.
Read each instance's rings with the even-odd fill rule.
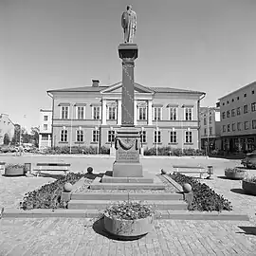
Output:
[[[206,92],[256,81],[255,0],[0,0],[0,113],[27,130],[46,91],[121,81],[120,16],[137,12],[135,81]]]

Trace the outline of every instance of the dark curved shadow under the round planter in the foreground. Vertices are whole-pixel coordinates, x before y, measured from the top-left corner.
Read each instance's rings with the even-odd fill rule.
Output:
[[[137,236],[137,237],[121,237],[121,236],[117,236],[114,234],[109,233],[106,229],[104,229],[104,217],[102,217],[101,219],[97,220],[94,224],[93,227],[94,231],[108,239],[112,239],[112,240],[116,240],[116,241],[134,241],[134,240],[138,240],[139,238],[145,236],[145,235],[141,235],[141,236]]]

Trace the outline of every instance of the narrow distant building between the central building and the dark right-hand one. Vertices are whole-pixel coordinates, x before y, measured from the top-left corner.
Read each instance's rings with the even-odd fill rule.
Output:
[[[219,108],[200,108],[200,135],[202,149],[205,151],[221,149]]]

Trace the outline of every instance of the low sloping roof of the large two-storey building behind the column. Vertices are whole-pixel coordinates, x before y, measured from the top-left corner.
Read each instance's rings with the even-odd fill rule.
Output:
[[[75,88],[65,88],[65,89],[56,89],[56,90],[48,90],[47,93],[52,92],[101,92],[104,89],[117,85],[120,82],[111,84],[109,86],[98,86],[93,87],[90,86],[82,86],[82,87],[75,87]],[[185,89],[177,89],[177,88],[170,88],[170,87],[148,87],[141,85],[136,82],[136,84],[140,87],[144,87],[147,90],[154,91],[155,93],[189,93],[189,94],[206,94],[205,92],[200,91],[192,91],[192,90],[185,90]]]

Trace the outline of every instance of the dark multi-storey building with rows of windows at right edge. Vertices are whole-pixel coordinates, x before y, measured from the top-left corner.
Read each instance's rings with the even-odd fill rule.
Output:
[[[251,152],[256,149],[256,82],[219,99],[222,149]]]

